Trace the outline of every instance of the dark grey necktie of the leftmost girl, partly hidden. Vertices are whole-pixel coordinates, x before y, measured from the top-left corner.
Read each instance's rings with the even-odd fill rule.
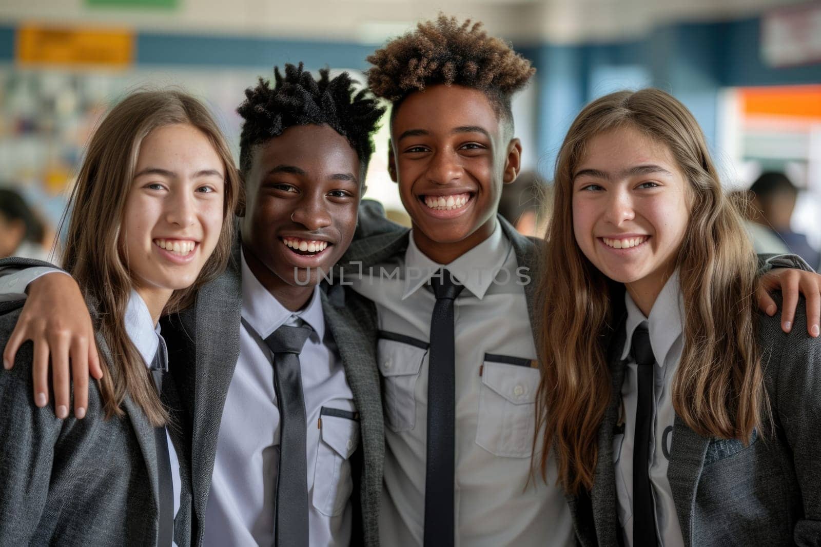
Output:
[[[163,393],[163,376],[168,372],[168,355],[165,342],[159,337],[157,353],[151,361],[151,376],[157,387],[157,394]],[[154,427],[154,444],[157,450],[157,472],[159,485],[159,535],[157,545],[170,547],[174,540],[174,483],[171,479],[171,458],[168,456],[168,442],[165,427]]]

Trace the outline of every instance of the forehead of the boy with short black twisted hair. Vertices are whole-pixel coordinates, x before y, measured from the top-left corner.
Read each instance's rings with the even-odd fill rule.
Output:
[[[294,125],[255,147],[251,172],[264,175],[280,165],[299,167],[315,177],[358,175],[360,169],[354,148],[329,125]]]

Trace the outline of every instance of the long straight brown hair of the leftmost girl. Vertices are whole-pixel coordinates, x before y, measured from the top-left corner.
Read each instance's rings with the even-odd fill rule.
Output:
[[[186,308],[197,289],[213,280],[231,256],[234,210],[241,184],[231,150],[207,107],[180,91],[131,93],[105,116],[94,132],[67,207],[68,226],[63,268],[77,280],[86,301],[93,303],[111,362],[104,363],[99,382],[106,417],[122,416],[126,394],[142,408],[153,426],[167,422],[167,413],[149,371],[126,333],[126,306],[133,285],[120,235],[126,198],[134,179],[143,139],[164,125],[188,124],[202,131],[222,158],[225,193],[218,244],[194,284],[177,290],[164,312]]]

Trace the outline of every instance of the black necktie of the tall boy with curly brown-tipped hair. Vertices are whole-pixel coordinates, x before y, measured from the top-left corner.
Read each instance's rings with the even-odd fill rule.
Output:
[[[424,481],[424,547],[453,545],[454,300],[456,285],[447,270],[430,278],[436,304],[430,319],[428,366],[428,459]]]

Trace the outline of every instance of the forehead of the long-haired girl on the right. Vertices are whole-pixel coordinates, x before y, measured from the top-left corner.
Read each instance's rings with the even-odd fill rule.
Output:
[[[677,161],[666,144],[626,125],[594,135],[585,144],[578,169],[617,171],[642,164],[677,170]]]

